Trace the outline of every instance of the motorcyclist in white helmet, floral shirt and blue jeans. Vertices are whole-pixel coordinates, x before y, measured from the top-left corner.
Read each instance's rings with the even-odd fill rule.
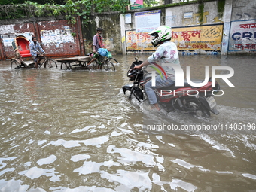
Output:
[[[180,66],[178,49],[176,44],[170,41],[172,38],[172,29],[169,26],[159,26],[157,29],[149,32],[148,35],[154,36],[154,39],[151,41],[154,47],[160,45],[148,59],[142,62],[141,65],[135,66],[134,69],[141,69],[143,66],[151,65],[154,62],[160,62],[159,65],[163,67],[167,78],[163,76],[163,78],[161,78],[161,75],[157,75],[154,87],[152,86],[152,80],[148,81],[144,86],[149,103],[154,105],[154,108],[156,108],[157,111],[160,111],[154,88],[169,87],[172,84],[175,84],[175,70],[171,66],[168,66],[168,63]]]

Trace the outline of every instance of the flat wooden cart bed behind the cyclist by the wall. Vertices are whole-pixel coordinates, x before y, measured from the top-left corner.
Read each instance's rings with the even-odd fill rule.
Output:
[[[87,67],[87,63],[90,62],[91,58],[90,56],[75,56],[56,59],[56,61],[61,63],[60,69],[90,69]]]

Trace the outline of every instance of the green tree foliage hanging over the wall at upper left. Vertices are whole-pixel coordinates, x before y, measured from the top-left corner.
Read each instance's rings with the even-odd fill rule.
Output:
[[[84,22],[88,23],[96,13],[111,11],[125,13],[126,6],[130,4],[129,0],[66,0],[62,5],[53,0],[27,1],[19,4],[15,4],[16,0],[2,1],[6,1],[7,4],[0,5],[0,19],[62,16],[71,20],[72,23],[75,23],[77,15],[83,17]]]

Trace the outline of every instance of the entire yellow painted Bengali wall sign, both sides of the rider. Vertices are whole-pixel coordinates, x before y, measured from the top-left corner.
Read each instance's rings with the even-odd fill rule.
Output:
[[[172,40],[178,50],[221,50],[223,25],[172,28]],[[126,50],[155,50],[148,33],[126,31]]]

